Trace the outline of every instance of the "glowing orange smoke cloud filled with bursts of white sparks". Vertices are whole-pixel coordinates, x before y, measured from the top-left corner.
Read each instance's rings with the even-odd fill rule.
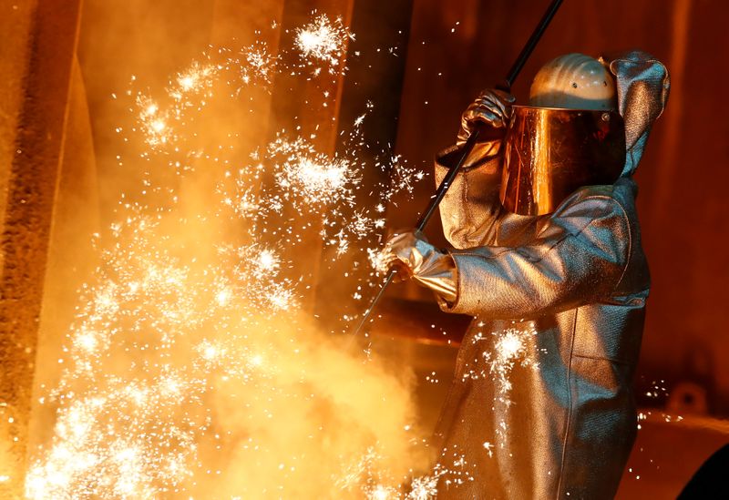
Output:
[[[406,495],[426,459],[412,376],[320,332],[307,277],[313,248],[345,253],[382,225],[380,209],[355,206],[363,168],[395,168],[406,190],[416,172],[361,159],[357,124],[334,156],[291,130],[262,142],[265,107],[231,113],[272,72],[331,85],[350,36],[337,23],[313,19],[297,66],[264,42],[212,49],[164,87],[140,76],[113,97],[127,114],[97,153],[125,182],[104,197],[63,346],[46,352],[60,375],[39,400],[55,418],[29,497]]]

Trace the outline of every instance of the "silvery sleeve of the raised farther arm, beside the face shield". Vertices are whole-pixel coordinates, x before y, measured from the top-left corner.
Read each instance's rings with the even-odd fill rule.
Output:
[[[501,203],[500,141],[477,144],[440,203],[443,234],[457,249],[493,241]],[[446,177],[461,154],[461,148],[447,148],[436,156],[436,186]]]

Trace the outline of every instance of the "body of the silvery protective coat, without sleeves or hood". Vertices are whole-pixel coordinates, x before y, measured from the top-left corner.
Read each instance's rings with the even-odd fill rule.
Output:
[[[623,277],[611,294],[577,308],[473,321],[437,430],[441,464],[452,471],[439,497],[614,495],[635,436],[631,378],[650,278],[632,181],[584,190],[616,199],[630,221]],[[501,211],[482,244],[529,245],[548,218]]]

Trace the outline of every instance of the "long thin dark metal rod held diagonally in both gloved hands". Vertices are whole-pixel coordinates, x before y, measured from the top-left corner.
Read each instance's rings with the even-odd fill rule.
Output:
[[[519,72],[521,72],[521,68],[524,67],[524,64],[527,62],[527,59],[529,59],[529,56],[534,50],[534,47],[537,46],[537,43],[539,43],[539,38],[541,38],[541,36],[544,34],[544,30],[546,30],[547,26],[549,26],[549,22],[557,13],[557,10],[560,8],[561,3],[562,0],[553,0],[552,3],[549,4],[547,12],[542,15],[542,18],[539,21],[539,25],[534,29],[531,36],[529,36],[529,40],[527,40],[524,48],[521,49],[519,56],[517,56],[517,60],[514,61],[514,64],[508,70],[506,79],[501,85],[497,86],[497,88],[500,88],[501,90],[505,90],[507,92],[511,89],[514,81],[517,79],[517,77],[519,77]],[[433,217],[433,214],[436,213],[438,205],[440,205],[443,197],[446,196],[448,188],[450,188],[451,183],[454,179],[456,179],[458,172],[460,171],[461,167],[463,167],[463,164],[466,162],[466,158],[468,158],[468,156],[471,154],[471,151],[476,146],[478,137],[482,134],[483,130],[483,127],[475,127],[471,134],[468,136],[466,144],[461,150],[461,156],[458,158],[456,165],[448,170],[445,179],[440,182],[440,185],[436,190],[436,194],[433,195],[426,210],[420,216],[420,219],[417,220],[416,230],[422,231],[426,229],[428,221],[431,217]],[[383,295],[385,295],[385,290],[387,289],[389,284],[392,283],[393,279],[395,279],[396,273],[397,271],[395,269],[390,270],[390,272],[387,273],[387,277],[385,278],[382,287],[379,291],[377,291],[375,298],[370,302],[370,306],[366,309],[366,311],[364,311],[362,319],[357,324],[357,328],[354,329],[354,336],[362,331],[364,324],[370,319],[370,316],[372,316],[372,311],[375,309],[377,302],[382,299]]]

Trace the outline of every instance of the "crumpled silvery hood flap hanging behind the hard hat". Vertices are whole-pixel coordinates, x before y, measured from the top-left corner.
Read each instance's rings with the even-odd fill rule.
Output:
[[[625,122],[621,177],[628,177],[638,168],[652,124],[666,106],[671,78],[660,61],[640,50],[612,58],[609,67],[617,83],[618,111]]]

